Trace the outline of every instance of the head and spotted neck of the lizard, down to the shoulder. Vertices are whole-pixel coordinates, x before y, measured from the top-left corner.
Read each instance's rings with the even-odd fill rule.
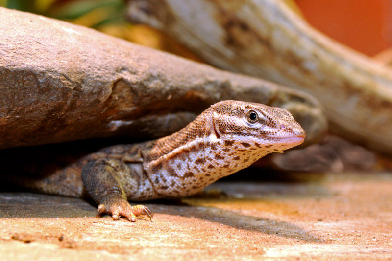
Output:
[[[152,142],[143,152],[143,166],[157,192],[188,196],[304,139],[305,131],[285,109],[222,101],[180,131]]]

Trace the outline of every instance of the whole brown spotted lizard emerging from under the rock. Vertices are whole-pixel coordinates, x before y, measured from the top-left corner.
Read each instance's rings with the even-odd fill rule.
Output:
[[[286,109],[226,100],[186,127],[157,140],[113,145],[21,185],[35,191],[92,197],[97,216],[136,221],[152,212],[129,201],[196,194],[272,152],[301,144],[305,131]],[[22,184],[23,183],[23,184]],[[129,201],[128,201],[129,200]]]

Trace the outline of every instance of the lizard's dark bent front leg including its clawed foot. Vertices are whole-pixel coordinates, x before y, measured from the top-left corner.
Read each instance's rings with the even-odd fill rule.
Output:
[[[107,213],[112,215],[113,220],[125,217],[134,222],[136,216],[146,215],[152,221],[152,213],[147,207],[131,206],[127,200],[130,195],[134,198],[140,196],[140,184],[143,182],[140,182],[142,175],[139,172],[123,161],[112,158],[91,160],[84,165],[83,185],[99,204],[97,216]]]

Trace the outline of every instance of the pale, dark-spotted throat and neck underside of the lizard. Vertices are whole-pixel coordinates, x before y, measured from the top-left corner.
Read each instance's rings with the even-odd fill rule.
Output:
[[[268,153],[286,149],[277,144],[280,143],[270,146],[249,140],[223,141],[211,133],[144,165],[160,195],[189,196]]]

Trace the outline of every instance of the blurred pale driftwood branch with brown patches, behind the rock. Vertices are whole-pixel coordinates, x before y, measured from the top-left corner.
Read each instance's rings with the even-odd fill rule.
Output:
[[[311,93],[333,132],[392,155],[392,71],[321,35],[283,1],[130,0],[128,16],[212,65]]]

